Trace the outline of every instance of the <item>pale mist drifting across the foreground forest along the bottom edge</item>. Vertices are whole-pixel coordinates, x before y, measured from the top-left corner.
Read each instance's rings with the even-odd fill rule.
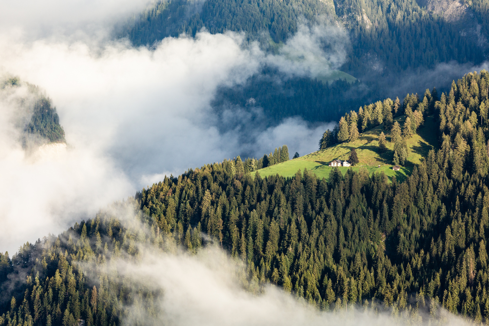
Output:
[[[319,311],[303,298],[294,298],[282,288],[265,285],[252,293],[241,261],[220,248],[206,246],[197,255],[168,254],[139,247],[137,260],[117,259],[108,264],[110,275],[130,280],[131,290],[158,293],[153,302],[124,307],[123,325],[468,325],[443,308],[430,320],[429,304],[392,314],[381,304],[354,304],[334,311]],[[98,284],[94,275],[93,283]],[[248,285],[246,285],[248,284]],[[154,306],[150,309],[150,305]],[[436,307],[436,306],[435,306]],[[331,307],[333,309],[333,306]],[[149,313],[151,310],[151,313]],[[420,317],[421,316],[421,317]]]

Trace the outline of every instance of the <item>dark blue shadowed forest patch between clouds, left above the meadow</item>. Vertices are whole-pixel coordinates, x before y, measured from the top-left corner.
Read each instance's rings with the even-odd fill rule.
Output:
[[[229,106],[260,107],[271,122],[290,116],[301,116],[312,122],[334,121],[345,111],[368,103],[372,97],[373,93],[358,81],[350,84],[336,80],[330,84],[308,77],[287,78],[265,69],[243,86],[220,87],[213,106],[218,110]]]

